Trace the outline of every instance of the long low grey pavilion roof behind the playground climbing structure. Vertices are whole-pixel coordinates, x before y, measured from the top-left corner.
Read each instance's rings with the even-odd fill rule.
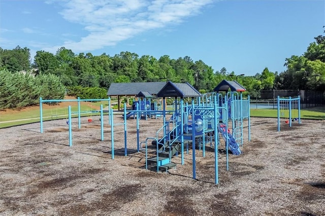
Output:
[[[108,96],[137,95],[139,92],[157,94],[166,82],[142,82],[142,83],[112,83],[108,89]]]

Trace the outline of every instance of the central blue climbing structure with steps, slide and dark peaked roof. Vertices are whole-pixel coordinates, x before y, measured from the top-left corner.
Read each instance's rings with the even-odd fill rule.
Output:
[[[145,151],[146,168],[148,165],[153,165],[156,167],[157,171],[160,169],[167,171],[176,166],[171,160],[174,156],[180,154],[181,164],[184,164],[184,150],[186,149],[188,153],[188,148],[190,144],[192,144],[193,178],[196,178],[196,148],[201,150],[202,147],[203,156],[205,157],[205,145],[209,143],[210,147],[213,147],[216,156],[215,169],[217,184],[217,146],[219,145],[219,133],[225,141],[226,150],[230,150],[234,155],[240,155],[242,153],[236,137],[238,137],[238,140],[243,139],[242,121],[245,118],[249,119],[249,98],[248,100],[243,100],[238,93],[229,94],[230,100],[227,95],[223,96],[215,92],[201,95],[195,89],[188,89],[188,85],[189,84],[186,83],[174,84],[168,82],[165,87],[159,91],[157,97],[163,97],[164,101],[162,113],[164,116],[164,125],[157,130],[155,136],[147,137],[146,140],[141,142],[138,138],[138,147],[140,150]],[[166,117],[166,114],[170,112],[166,112],[166,97],[175,98],[174,111],[169,120],[167,120]],[[184,103],[184,97],[192,98],[190,105]],[[180,98],[180,100],[177,100],[178,98]],[[137,112],[140,113],[141,111]],[[232,133],[230,131],[228,132],[229,120],[234,122],[232,123],[234,128]],[[250,130],[250,127],[248,128]],[[227,132],[225,133],[223,129]],[[151,154],[155,155],[153,157],[148,157],[149,141],[153,145],[156,145],[154,152],[151,152]],[[242,141],[239,143],[242,145]],[[229,168],[228,161],[228,151],[226,151],[227,169]]]

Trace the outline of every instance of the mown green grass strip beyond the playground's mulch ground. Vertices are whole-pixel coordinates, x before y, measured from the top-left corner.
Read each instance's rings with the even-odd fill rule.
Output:
[[[100,110],[101,104],[103,104],[103,107],[105,108],[107,106],[107,101],[82,102],[80,104],[81,104],[80,110],[82,112],[89,112],[86,114],[82,114],[82,116],[89,117],[89,116],[100,115],[99,113],[90,113],[90,111]],[[68,118],[67,107],[69,105],[71,105],[72,112],[78,111],[78,106],[72,103],[70,104],[60,103],[60,105],[44,104],[43,121],[49,121],[55,119],[67,119]],[[288,114],[282,113],[283,117],[286,117],[287,115]],[[293,115],[297,115],[297,111],[293,111]],[[251,109],[250,116],[277,118],[277,110],[276,109]],[[77,117],[77,115],[73,115],[73,117]],[[301,119],[325,120],[325,106],[318,106],[318,107],[301,110]],[[26,107],[20,111],[7,110],[7,111],[0,112],[0,128],[28,124],[28,123],[35,123],[39,121],[40,121],[39,106]]]

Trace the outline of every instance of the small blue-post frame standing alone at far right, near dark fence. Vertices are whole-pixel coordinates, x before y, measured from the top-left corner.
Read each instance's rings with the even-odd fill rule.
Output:
[[[300,120],[300,96],[297,98],[277,97],[278,106],[278,131],[280,131],[280,119],[285,119],[285,123],[291,127],[293,122],[301,124]]]

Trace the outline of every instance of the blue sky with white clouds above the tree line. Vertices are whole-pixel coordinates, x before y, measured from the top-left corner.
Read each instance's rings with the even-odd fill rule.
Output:
[[[0,47],[189,56],[214,71],[285,70],[323,34],[325,1],[0,1]]]

